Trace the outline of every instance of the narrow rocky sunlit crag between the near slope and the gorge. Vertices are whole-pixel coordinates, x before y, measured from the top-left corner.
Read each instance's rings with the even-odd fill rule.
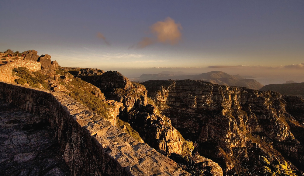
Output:
[[[172,127],[169,118],[157,112],[153,102],[148,104],[147,90],[143,85],[131,83],[116,71],[78,77],[97,86],[106,99],[123,103],[119,118],[130,123],[150,146],[166,153],[181,153],[182,136]]]

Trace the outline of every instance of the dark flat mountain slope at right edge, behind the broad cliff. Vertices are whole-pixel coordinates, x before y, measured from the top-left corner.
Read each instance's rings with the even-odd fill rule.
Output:
[[[289,84],[269,84],[262,87],[260,90],[273,90],[283,95],[295,95],[304,97],[304,82]]]

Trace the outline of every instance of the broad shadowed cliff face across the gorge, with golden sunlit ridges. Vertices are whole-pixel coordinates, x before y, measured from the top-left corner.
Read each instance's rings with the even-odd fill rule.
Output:
[[[142,84],[182,136],[226,174],[271,175],[284,165],[301,175],[302,99],[194,80]]]

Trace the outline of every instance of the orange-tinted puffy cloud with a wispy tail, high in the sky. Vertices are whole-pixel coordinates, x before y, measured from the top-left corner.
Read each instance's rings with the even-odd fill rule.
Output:
[[[145,48],[154,43],[167,43],[171,45],[178,44],[181,40],[181,24],[167,17],[164,21],[158,21],[150,26],[150,32],[154,37],[143,37],[140,42],[129,48]]]

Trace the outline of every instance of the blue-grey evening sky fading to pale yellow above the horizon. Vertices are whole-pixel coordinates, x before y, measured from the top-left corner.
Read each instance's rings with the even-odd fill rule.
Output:
[[[220,70],[304,82],[304,1],[6,1],[0,51],[60,66],[143,73]]]

